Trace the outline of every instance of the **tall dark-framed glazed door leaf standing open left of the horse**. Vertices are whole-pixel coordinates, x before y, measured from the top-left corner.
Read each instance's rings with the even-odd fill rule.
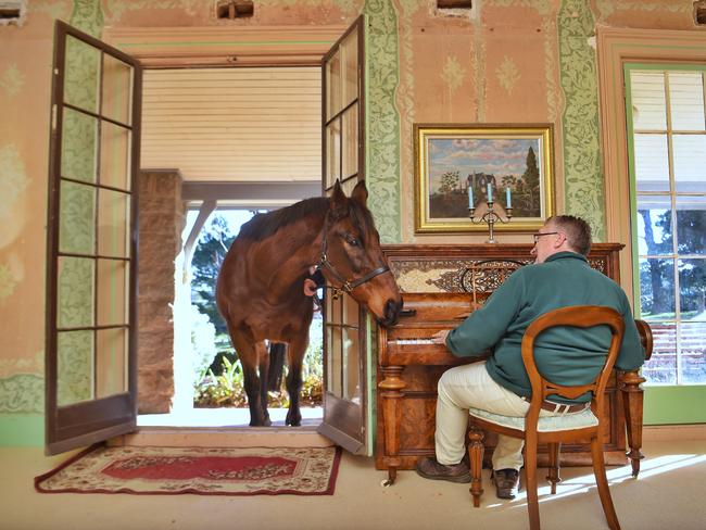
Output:
[[[47,237],[46,451],[135,430],[141,68],[58,21]]]

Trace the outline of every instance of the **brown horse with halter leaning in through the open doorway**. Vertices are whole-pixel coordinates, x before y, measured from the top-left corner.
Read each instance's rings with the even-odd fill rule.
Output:
[[[330,199],[306,199],[256,215],[226,254],[216,301],[242,364],[251,426],[272,424],[265,340],[287,344],[287,425],[301,424],[302,361],[314,313],[304,280],[312,266],[367,306],[380,324],[396,323],[402,298],[380,250],[367,197],[364,182],[348,198],[337,181]]]

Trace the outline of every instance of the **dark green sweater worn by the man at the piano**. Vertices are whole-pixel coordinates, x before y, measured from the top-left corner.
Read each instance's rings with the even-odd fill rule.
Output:
[[[492,349],[486,363],[490,377],[516,394],[530,398],[531,387],[520,353],[525,330],[544,313],[569,305],[602,305],[620,313],[626,328],[615,366],[621,370],[642,366],[644,352],[625,291],[573,252],[559,252],[542,264],[516,270],[482,308],[449,333],[446,346],[462,357]],[[553,328],[534,342],[537,365],[555,383],[585,384],[603,366],[609,344],[610,331],[606,326]],[[552,401],[569,402],[558,396]],[[590,395],[575,401],[590,401]]]

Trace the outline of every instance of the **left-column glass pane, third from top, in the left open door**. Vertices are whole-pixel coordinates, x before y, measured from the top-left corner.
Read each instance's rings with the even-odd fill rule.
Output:
[[[70,254],[96,252],[96,188],[61,181],[59,251]]]

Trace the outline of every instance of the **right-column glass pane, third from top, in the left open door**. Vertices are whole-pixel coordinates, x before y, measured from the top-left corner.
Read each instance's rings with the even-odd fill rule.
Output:
[[[100,189],[98,200],[98,254],[129,257],[130,195]]]

